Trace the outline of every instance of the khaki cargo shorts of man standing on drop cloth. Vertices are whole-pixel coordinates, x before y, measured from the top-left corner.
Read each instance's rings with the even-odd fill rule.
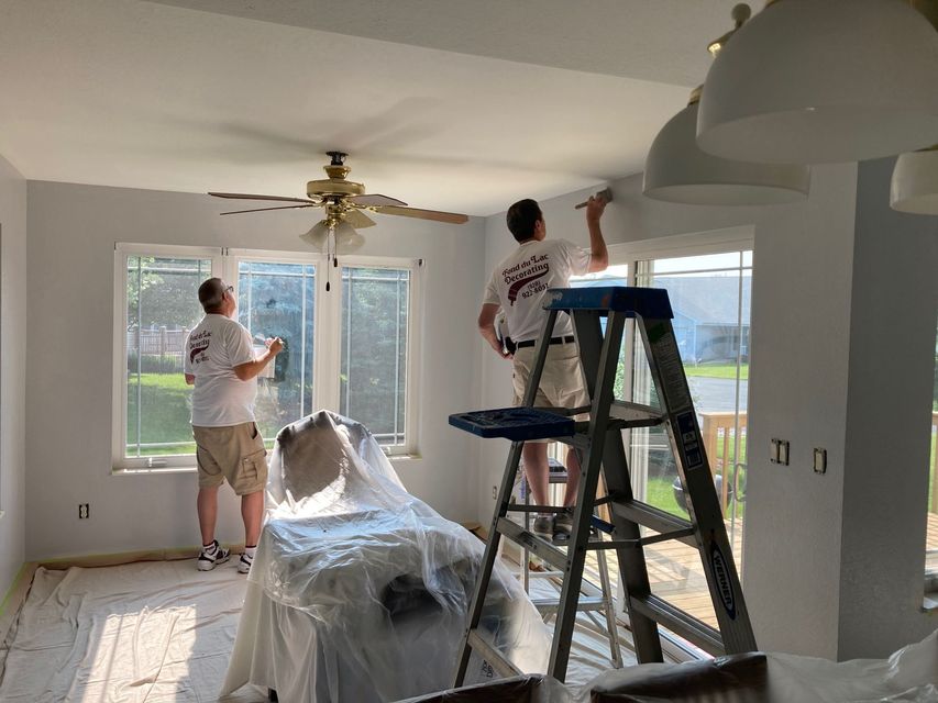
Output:
[[[192,427],[199,488],[221,486],[227,479],[238,495],[263,491],[267,484],[267,450],[253,422],[230,427]]]

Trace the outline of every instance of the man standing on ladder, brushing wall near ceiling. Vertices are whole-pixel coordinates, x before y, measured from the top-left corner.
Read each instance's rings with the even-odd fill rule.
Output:
[[[534,360],[534,344],[544,317],[543,298],[549,288],[566,288],[571,276],[603,271],[608,266],[608,254],[599,220],[606,209],[602,198],[591,198],[586,204],[586,226],[589,231],[589,250],[566,239],[547,239],[547,225],[541,209],[533,200],[520,200],[508,209],[508,230],[519,247],[506,257],[495,270],[485,288],[478,331],[503,358],[512,359],[515,405],[520,405],[525,387]],[[503,350],[494,322],[503,310],[511,339],[517,344],[515,354]],[[573,323],[565,313],[558,315],[541,375],[536,408],[583,408],[589,404],[580,353],[573,337]],[[545,442],[527,442],[521,450],[528,484],[538,505],[548,504],[548,448]],[[580,458],[574,449],[566,454],[567,482],[563,506],[571,509],[551,517],[540,513],[534,517],[533,532],[562,542],[570,538],[572,506],[576,502],[580,483]]]

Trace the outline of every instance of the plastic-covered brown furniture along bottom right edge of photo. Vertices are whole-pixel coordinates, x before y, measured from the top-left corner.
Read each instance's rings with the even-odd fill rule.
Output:
[[[608,671],[583,687],[523,677],[442,691],[402,703],[935,703],[938,632],[889,659],[836,663],[752,652],[711,661],[647,663]]]

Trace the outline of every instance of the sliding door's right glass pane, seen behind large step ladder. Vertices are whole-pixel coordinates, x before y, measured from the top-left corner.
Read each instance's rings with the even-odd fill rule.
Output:
[[[674,335],[697,422],[724,509],[727,534],[741,570],[746,491],[746,410],[752,269],[744,252],[641,261],[639,286],[664,288],[674,310]],[[642,345],[637,345],[632,399],[659,406]],[[666,432],[632,431],[637,498],[686,517],[683,488]],[[716,625],[698,553],[676,540],[647,550],[652,590]]]

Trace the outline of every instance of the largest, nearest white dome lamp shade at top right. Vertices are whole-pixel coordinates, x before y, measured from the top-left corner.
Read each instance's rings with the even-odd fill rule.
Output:
[[[938,32],[904,0],[777,0],[710,66],[697,144],[724,158],[856,161],[938,142]]]

